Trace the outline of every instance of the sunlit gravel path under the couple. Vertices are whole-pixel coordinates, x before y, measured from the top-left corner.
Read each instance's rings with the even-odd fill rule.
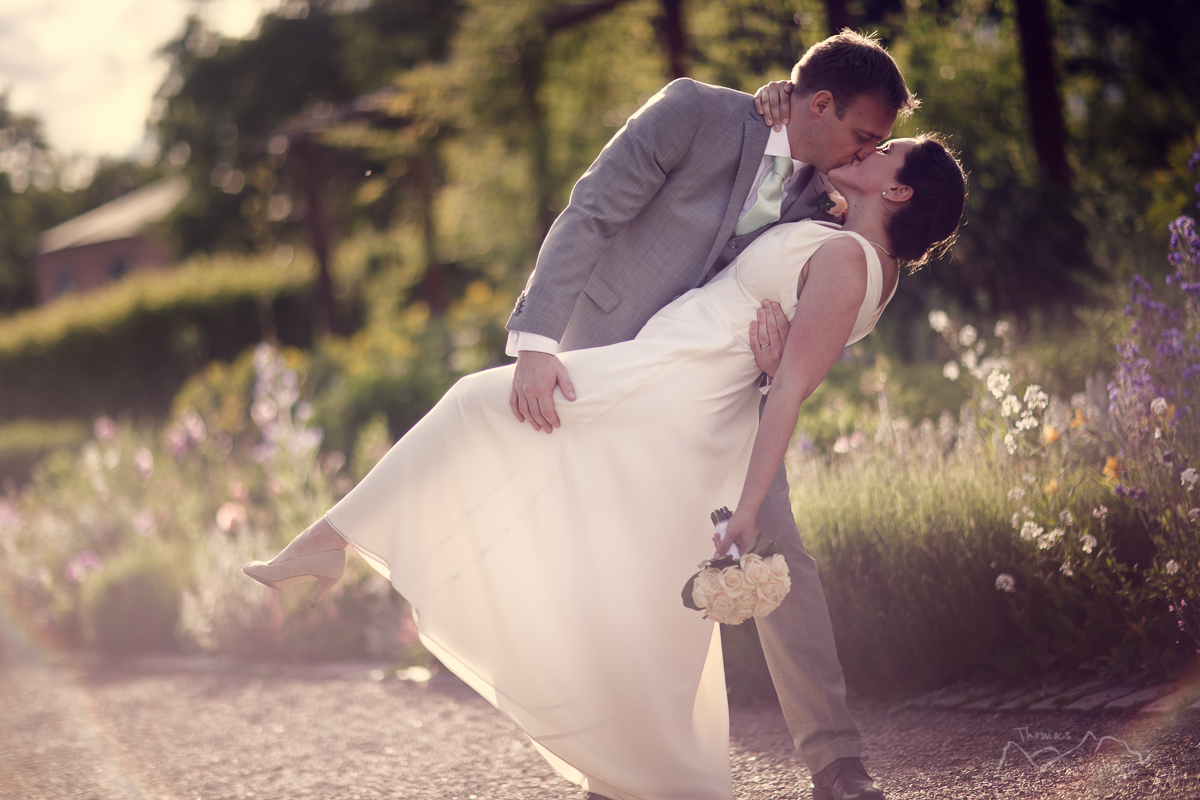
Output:
[[[10,640],[0,648],[0,798],[582,799],[452,676],[422,686],[379,680],[372,667],[80,664]],[[854,711],[868,768],[893,800],[1200,798],[1194,711]],[[739,800],[810,796],[776,706],[734,706],[731,726]],[[1067,754],[1036,753],[1046,746]]]

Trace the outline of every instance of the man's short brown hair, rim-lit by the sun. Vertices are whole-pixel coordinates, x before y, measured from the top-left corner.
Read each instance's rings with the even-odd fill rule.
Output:
[[[802,96],[828,90],[838,119],[860,95],[878,97],[901,119],[920,104],[908,91],[895,59],[875,41],[875,35],[863,36],[848,28],[810,47],[792,67],[792,83]]]

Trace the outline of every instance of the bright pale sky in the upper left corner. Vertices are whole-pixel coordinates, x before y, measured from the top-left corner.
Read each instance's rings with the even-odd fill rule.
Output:
[[[137,157],[167,73],[156,52],[198,13],[244,37],[280,0],[0,0],[0,92],[65,156]]]

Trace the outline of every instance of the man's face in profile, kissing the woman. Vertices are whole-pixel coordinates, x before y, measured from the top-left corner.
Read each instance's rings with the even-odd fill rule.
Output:
[[[892,133],[896,112],[875,95],[860,95],[838,119],[838,104],[827,91],[808,98],[808,106],[793,109],[808,114],[805,142],[792,142],[792,154],[823,173],[866,157]],[[803,128],[797,126],[797,132]],[[788,134],[791,138],[791,128]],[[797,146],[800,145],[800,146]],[[806,157],[805,157],[806,156]]]

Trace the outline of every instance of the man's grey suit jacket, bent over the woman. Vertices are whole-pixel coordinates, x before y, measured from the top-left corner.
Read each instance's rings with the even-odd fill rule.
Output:
[[[605,145],[551,227],[509,318],[562,350],[634,338],[763,230],[733,236],[770,130],[744,92],[673,80]],[[811,167],[780,222],[817,218]]]

